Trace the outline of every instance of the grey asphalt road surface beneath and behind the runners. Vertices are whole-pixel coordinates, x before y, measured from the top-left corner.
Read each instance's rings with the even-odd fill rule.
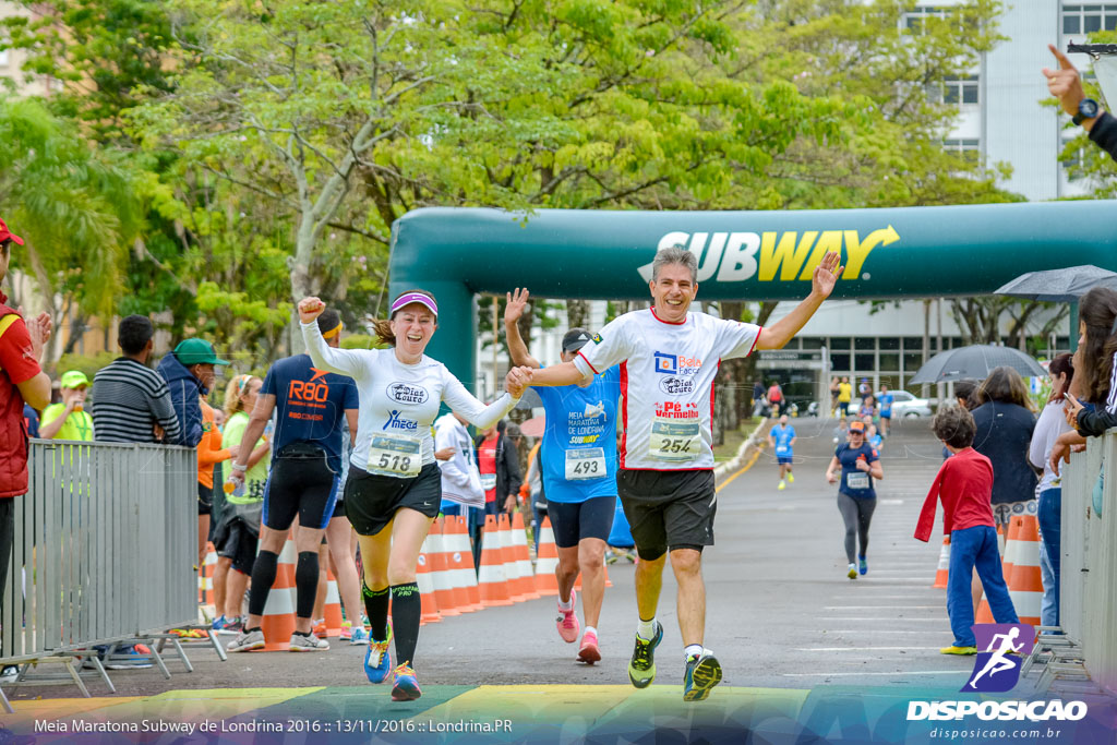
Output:
[[[764,452],[720,490],[717,544],[705,554],[706,646],[733,686],[812,688],[843,686],[961,687],[973,660],[945,657],[951,642],[945,591],[932,589],[939,545],[911,537],[924,495],[942,462],[927,420],[901,422],[887,441],[878,508],[869,545],[869,573],[846,576],[843,528],[836,488],[824,471],[833,453],[832,420],[795,420],[795,483],[777,491],[777,471]],[[599,634],[603,659],[575,661],[576,644],[555,631],[553,598],[487,609],[422,628],[416,669],[429,685],[628,684],[637,614],[631,564],[609,569]],[[658,682],[678,685],[681,639],[675,581],[668,577],[659,618]],[[359,686],[365,684],[362,647],[331,640],[322,653],[230,655],[190,651],[193,674],[170,662],[171,680],[155,670],[113,671],[122,695],[182,688]],[[107,691],[96,678],[94,696]],[[8,689],[15,699],[73,697],[73,686]]]

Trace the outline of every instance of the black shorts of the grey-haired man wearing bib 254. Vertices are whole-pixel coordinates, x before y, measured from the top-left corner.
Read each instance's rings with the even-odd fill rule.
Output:
[[[714,545],[713,470],[621,469],[617,491],[640,558],[655,561],[668,550]]]

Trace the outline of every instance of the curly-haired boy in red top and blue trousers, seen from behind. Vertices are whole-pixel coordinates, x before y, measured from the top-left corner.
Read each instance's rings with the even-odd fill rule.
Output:
[[[935,416],[935,437],[951,457],[943,461],[919,513],[915,537],[926,542],[935,525],[935,507],[943,499],[943,532],[949,536],[951,572],[946,581],[946,612],[951,617],[954,643],[944,655],[975,655],[974,608],[970,579],[974,567],[985,588],[985,598],[997,623],[1019,623],[1012,598],[1004,584],[996,551],[993,523],[993,465],[974,450],[974,418],[962,407],[951,407]]]

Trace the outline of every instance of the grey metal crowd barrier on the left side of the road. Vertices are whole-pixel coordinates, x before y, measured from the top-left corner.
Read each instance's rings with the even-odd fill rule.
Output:
[[[57,440],[29,447],[30,489],[15,500],[0,604],[0,663],[195,622],[195,451]]]

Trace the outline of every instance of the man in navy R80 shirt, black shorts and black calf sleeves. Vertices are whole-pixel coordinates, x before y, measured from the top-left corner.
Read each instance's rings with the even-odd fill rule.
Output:
[[[318,316],[326,344],[338,346],[342,321],[336,311]],[[330,649],[312,632],[314,598],[318,588],[318,546],[330,518],[334,516],[342,471],[342,437],[345,423],[356,429],[357,390],[344,375],[317,370],[309,355],[279,360],[267,378],[252,410],[242,442],[255,442],[264,433],[271,413],[276,414],[271,472],[264,491],[260,552],[252,565],[252,593],[245,631],[229,643],[229,651],[244,652],[264,647],[260,629],[268,591],[275,582],[279,552],[295,516],[298,529],[295,547],[296,612],[292,651]],[[230,481],[244,483],[248,452],[232,465]],[[275,640],[279,641],[279,640]]]

